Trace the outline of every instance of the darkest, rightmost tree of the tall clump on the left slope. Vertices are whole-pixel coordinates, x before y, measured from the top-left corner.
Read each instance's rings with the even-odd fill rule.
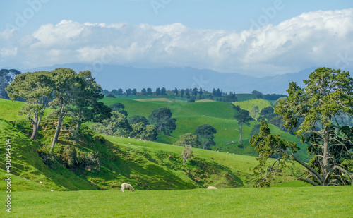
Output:
[[[76,99],[71,104],[69,115],[76,122],[76,133],[80,131],[80,125],[84,122],[102,122],[112,116],[112,109],[102,102],[102,87],[92,78],[90,71],[80,71],[78,80],[82,87],[78,90]]]

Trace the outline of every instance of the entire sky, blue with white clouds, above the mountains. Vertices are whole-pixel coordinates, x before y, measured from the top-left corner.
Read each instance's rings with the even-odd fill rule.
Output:
[[[353,68],[351,0],[18,0],[0,2],[0,20],[0,68]]]

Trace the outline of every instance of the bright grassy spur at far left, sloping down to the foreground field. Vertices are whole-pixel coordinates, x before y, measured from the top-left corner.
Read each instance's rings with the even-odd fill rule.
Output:
[[[6,152],[5,140],[11,140],[11,174],[14,175],[13,183],[16,184],[12,186],[13,191],[97,189],[58,162],[49,168],[37,152],[41,147],[39,144],[7,121],[0,120],[1,154]],[[0,171],[5,174],[5,169],[5,155],[0,155]],[[1,180],[4,174],[1,174]],[[39,185],[39,181],[43,181],[43,186]],[[5,190],[5,186],[5,183],[0,183],[1,189]]]

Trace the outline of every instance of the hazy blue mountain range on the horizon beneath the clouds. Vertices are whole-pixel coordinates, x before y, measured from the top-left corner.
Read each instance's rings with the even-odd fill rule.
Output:
[[[300,87],[304,87],[303,80],[307,79],[308,75],[316,69],[316,67],[313,67],[299,73],[255,78],[239,73],[220,73],[190,67],[134,68],[109,64],[99,67],[83,63],[67,63],[34,69],[21,69],[20,71],[22,73],[52,71],[55,68],[72,68],[76,72],[90,70],[97,83],[107,90],[136,88],[140,91],[144,87],[150,87],[154,91],[157,87],[165,87],[167,90],[174,90],[175,87],[179,89],[202,87],[203,90],[209,92],[213,88],[220,88],[223,92],[250,93],[253,90],[258,90],[264,94],[287,94],[286,90],[290,82],[297,82]]]

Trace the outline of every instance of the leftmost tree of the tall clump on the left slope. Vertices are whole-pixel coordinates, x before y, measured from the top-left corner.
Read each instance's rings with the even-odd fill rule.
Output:
[[[37,140],[42,115],[48,107],[49,99],[52,99],[53,86],[49,72],[39,71],[16,75],[13,82],[6,87],[11,100],[20,97],[27,102],[18,114],[25,114],[32,123],[32,140]]]

